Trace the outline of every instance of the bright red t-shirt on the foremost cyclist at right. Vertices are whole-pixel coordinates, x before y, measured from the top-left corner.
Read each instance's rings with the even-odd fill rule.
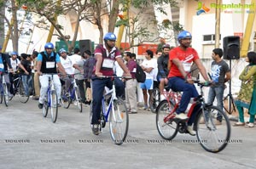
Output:
[[[192,62],[195,61],[195,59],[199,59],[199,56],[194,48],[187,48],[186,50],[179,47],[172,48],[169,52],[169,60],[171,62],[171,69],[168,75],[169,78],[173,76],[183,77],[179,72],[177,65],[172,63],[172,59],[179,59],[183,64],[184,70],[189,72]]]

